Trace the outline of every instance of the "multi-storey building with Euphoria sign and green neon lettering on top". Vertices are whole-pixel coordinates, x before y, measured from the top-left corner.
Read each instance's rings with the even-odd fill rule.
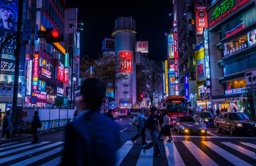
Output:
[[[207,16],[214,109],[236,107],[255,116],[255,1],[218,0],[208,5]]]

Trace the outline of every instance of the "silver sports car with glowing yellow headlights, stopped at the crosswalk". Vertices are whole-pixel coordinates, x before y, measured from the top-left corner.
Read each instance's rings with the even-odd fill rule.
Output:
[[[207,126],[200,122],[196,117],[179,117],[173,122],[173,129],[178,130],[179,134],[198,133],[206,135]]]

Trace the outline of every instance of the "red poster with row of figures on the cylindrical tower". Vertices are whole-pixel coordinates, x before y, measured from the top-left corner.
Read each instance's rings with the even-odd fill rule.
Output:
[[[132,73],[132,51],[118,52],[118,73]]]

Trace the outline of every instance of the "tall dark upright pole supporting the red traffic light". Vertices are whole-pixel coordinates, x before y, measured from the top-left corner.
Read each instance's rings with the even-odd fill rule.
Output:
[[[15,71],[14,71],[14,86],[13,86],[13,99],[12,99],[12,122],[17,121],[17,103],[18,103],[18,82],[19,82],[19,69],[20,69],[20,47],[21,47],[21,28],[22,28],[22,9],[23,1],[19,1],[18,10],[18,29],[17,29],[17,44],[15,50]]]

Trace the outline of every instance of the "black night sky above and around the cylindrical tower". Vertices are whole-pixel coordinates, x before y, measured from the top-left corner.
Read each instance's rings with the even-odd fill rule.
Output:
[[[157,61],[167,58],[165,33],[169,33],[172,28],[173,16],[168,15],[173,12],[171,0],[93,0],[83,1],[83,4],[80,0],[67,0],[66,3],[68,8],[78,8],[78,22],[84,23],[80,33],[80,55],[95,57],[101,53],[102,39],[112,38],[114,19],[132,16],[138,32],[136,41],[149,42],[149,58]]]

